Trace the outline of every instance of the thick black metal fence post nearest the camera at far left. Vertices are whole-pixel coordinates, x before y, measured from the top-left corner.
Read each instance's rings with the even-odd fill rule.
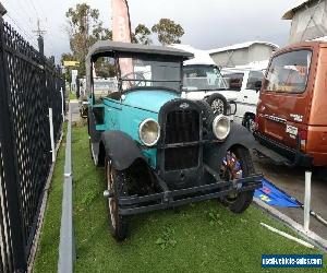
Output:
[[[0,3],[0,143],[5,171],[4,186],[7,190],[8,216],[10,219],[10,239],[12,245],[12,259],[15,272],[25,272],[26,253],[24,234],[22,229],[22,215],[19,203],[19,179],[16,154],[14,149],[14,134],[12,128],[12,114],[9,87],[9,74],[5,66],[4,22],[2,15],[5,9]]]

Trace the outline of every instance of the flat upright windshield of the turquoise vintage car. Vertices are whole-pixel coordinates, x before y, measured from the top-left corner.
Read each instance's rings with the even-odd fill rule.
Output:
[[[181,90],[181,60],[167,57],[119,58],[122,91],[150,86]]]

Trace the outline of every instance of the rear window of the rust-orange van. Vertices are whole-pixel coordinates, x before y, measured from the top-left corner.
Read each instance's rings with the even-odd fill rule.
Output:
[[[304,92],[311,56],[311,50],[296,50],[275,57],[267,72],[265,88],[286,93]]]

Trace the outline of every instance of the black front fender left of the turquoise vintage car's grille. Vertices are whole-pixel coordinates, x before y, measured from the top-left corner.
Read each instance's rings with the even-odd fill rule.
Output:
[[[117,170],[129,168],[137,158],[145,159],[136,142],[126,133],[109,131],[101,133],[106,155]]]

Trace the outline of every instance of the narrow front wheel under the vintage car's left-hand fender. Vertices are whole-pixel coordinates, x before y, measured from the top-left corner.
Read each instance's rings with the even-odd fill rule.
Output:
[[[124,171],[116,170],[110,158],[106,156],[106,185],[109,191],[113,191],[113,198],[108,199],[108,218],[112,237],[122,241],[128,237],[129,219],[119,213],[119,197],[128,195],[128,186]]]

